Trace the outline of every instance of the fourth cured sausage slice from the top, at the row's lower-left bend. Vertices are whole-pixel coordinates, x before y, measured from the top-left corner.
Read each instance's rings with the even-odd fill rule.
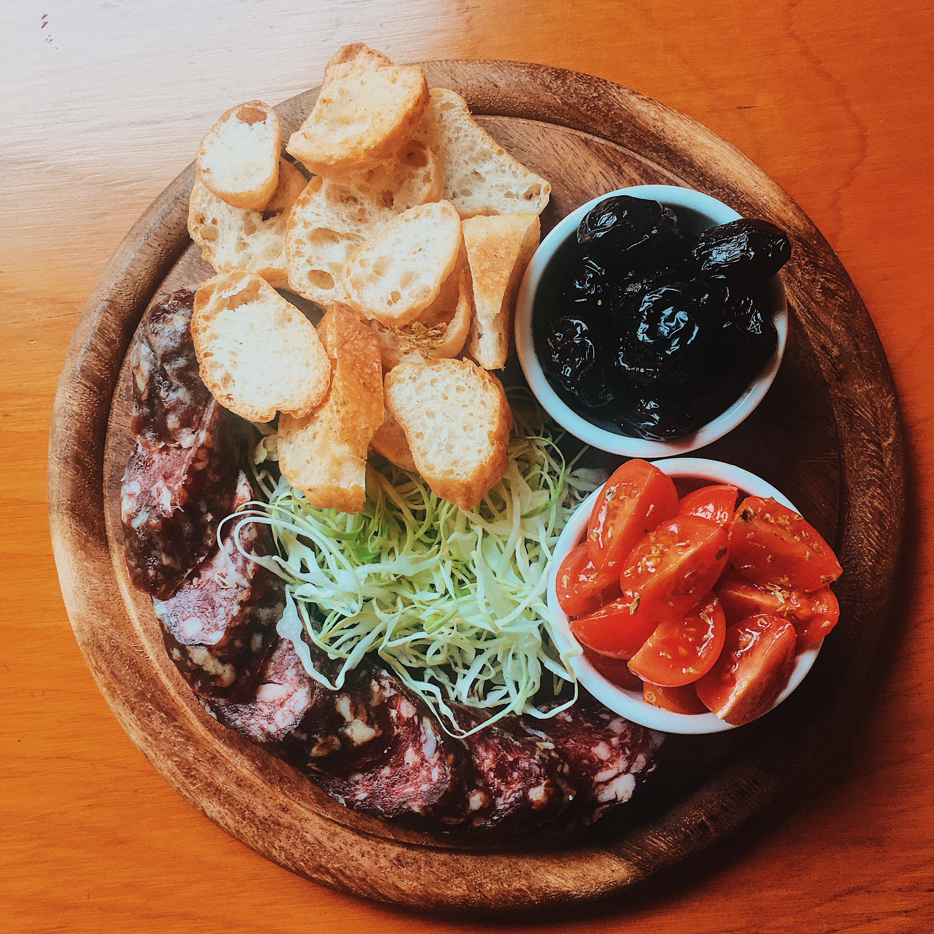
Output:
[[[327,688],[305,672],[290,640],[280,639],[263,660],[255,686],[229,700],[205,701],[205,706],[225,727],[257,743],[278,743],[320,701],[321,691]]]

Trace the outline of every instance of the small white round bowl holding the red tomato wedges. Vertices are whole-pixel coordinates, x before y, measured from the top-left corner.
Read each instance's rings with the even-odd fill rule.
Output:
[[[748,496],[774,497],[778,502],[784,503],[789,509],[795,506],[777,489],[760,479],[756,474],[733,467],[731,464],[721,463],[719,460],[702,460],[701,458],[678,458],[676,460],[656,460],[655,466],[670,477],[690,477],[708,481],[711,484],[729,483],[740,489]],[[574,511],[573,516],[561,532],[555,555],[551,562],[551,573],[548,575],[548,609],[555,620],[555,641],[559,651],[565,652],[580,647],[571,631],[570,619],[558,605],[558,596],[555,592],[555,580],[558,569],[569,551],[578,545],[587,531],[587,519],[593,505],[600,496],[600,489],[595,489],[587,499]],[[775,702],[769,708],[777,707],[785,698],[800,685],[804,675],[811,670],[814,658],[823,644],[823,640],[812,648],[805,649],[795,656],[795,667],[791,671],[788,684]],[[670,710],[662,710],[642,699],[641,691],[630,691],[608,681],[595,669],[583,655],[571,659],[571,669],[577,680],[598,701],[606,704],[610,710],[625,716],[633,723],[641,723],[644,727],[660,729],[666,733],[719,733],[725,729],[735,729],[732,724],[721,720],[714,714],[675,714]]]

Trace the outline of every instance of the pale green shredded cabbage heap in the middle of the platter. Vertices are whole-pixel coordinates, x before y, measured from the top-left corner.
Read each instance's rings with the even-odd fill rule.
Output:
[[[565,464],[537,412],[514,403],[509,467],[470,512],[381,458],[367,465],[366,505],[354,515],[315,508],[284,477],[254,467],[268,502],[230,518],[270,526],[278,555],[259,560],[286,584],[278,631],[312,677],[339,688],[374,652],[460,736],[449,701],[487,710],[488,722],[550,716],[573,703],[568,660],[580,650],[556,649],[545,587],[560,531],[601,477]],[[274,453],[270,441],[257,446],[255,464]],[[303,630],[343,659],[333,685],[300,644]],[[574,686],[572,700],[547,712],[532,700],[545,672],[553,697],[564,682]]]

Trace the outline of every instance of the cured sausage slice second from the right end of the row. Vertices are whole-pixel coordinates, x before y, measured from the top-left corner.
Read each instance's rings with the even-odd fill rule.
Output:
[[[487,718],[468,707],[453,709],[461,729],[474,729]],[[552,743],[524,732],[517,717],[504,717],[461,742],[472,765],[467,796],[462,812],[443,818],[445,823],[525,830],[557,817],[573,800],[568,763]]]

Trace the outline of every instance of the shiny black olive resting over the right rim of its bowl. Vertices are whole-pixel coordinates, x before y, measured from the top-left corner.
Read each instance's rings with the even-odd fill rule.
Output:
[[[690,260],[700,276],[750,288],[774,276],[790,256],[785,231],[768,220],[741,218],[703,231]]]

